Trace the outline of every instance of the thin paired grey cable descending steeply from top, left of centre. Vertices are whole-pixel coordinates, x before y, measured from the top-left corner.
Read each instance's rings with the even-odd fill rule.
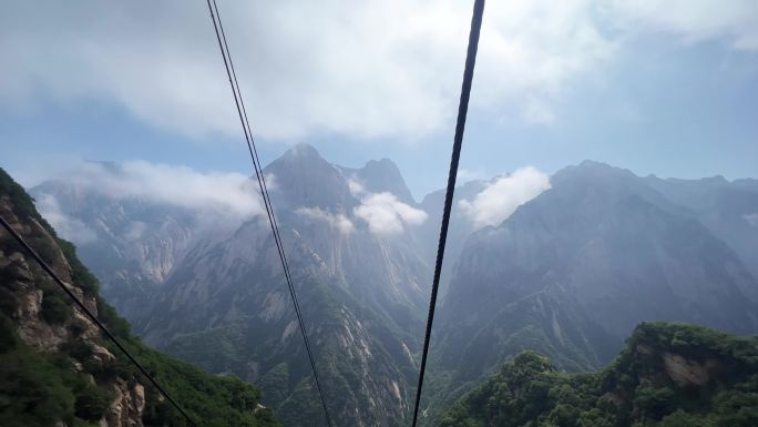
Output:
[[[321,406],[324,408],[324,414],[328,426],[331,426],[331,417],[329,416],[329,410],[326,405],[326,399],[324,397],[324,390],[318,377],[318,370],[316,369],[316,363],[313,355],[313,349],[310,347],[310,340],[308,339],[308,334],[305,327],[305,322],[303,321],[303,313],[300,311],[300,304],[297,299],[297,293],[295,292],[295,286],[293,284],[291,273],[289,271],[289,264],[287,262],[287,256],[284,251],[284,245],[281,244],[281,235],[279,233],[279,226],[276,221],[276,215],[274,214],[274,209],[270,202],[270,195],[268,194],[268,187],[266,185],[266,177],[263,173],[263,166],[260,165],[260,160],[258,157],[258,152],[255,146],[255,140],[253,139],[253,130],[247,119],[247,111],[245,110],[245,103],[243,101],[242,91],[239,90],[239,83],[237,81],[237,73],[234,69],[234,62],[232,60],[232,54],[226,42],[226,34],[224,32],[224,24],[222,23],[221,14],[218,12],[218,6],[216,0],[213,0],[213,6],[211,0],[206,0],[208,4],[208,11],[211,12],[211,19],[213,20],[214,30],[216,32],[216,39],[218,41],[218,48],[224,58],[224,67],[226,68],[226,74],[229,79],[229,85],[232,87],[232,93],[234,95],[235,105],[237,108],[237,114],[239,115],[239,121],[245,133],[245,141],[247,142],[247,149],[250,154],[250,160],[253,161],[253,167],[255,169],[255,174],[258,181],[258,186],[260,187],[260,195],[264,200],[264,205],[266,207],[266,214],[268,216],[268,222],[272,226],[272,233],[274,235],[274,241],[276,243],[277,252],[279,254],[279,260],[281,262],[281,268],[285,273],[285,279],[287,282],[287,287],[289,289],[289,295],[293,299],[293,305],[295,306],[295,314],[298,318],[298,324],[300,326],[300,333],[303,335],[303,340],[305,343],[306,353],[308,354],[308,360],[310,362],[310,367],[314,373],[314,378],[316,382],[316,388],[318,390]],[[214,13],[215,12],[215,13]]]

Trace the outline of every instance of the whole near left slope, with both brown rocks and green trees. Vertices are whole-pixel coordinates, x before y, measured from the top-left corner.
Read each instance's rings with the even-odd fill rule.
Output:
[[[98,281],[0,169],[0,214],[34,247],[199,426],[276,426],[259,392],[147,348],[99,295]],[[55,283],[0,230],[0,425],[185,426]]]

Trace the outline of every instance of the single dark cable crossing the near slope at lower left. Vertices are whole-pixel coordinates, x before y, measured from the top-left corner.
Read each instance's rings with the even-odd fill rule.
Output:
[[[190,415],[186,411],[184,411],[184,409],[182,409],[182,407],[176,403],[176,400],[174,400],[174,398],[171,397],[171,395],[168,393],[166,393],[166,390],[163,387],[161,387],[158,382],[155,378],[153,378],[152,375],[150,375],[147,369],[145,369],[140,364],[140,362],[137,362],[137,359],[134,358],[134,356],[132,356],[131,353],[129,353],[129,350],[121,344],[119,338],[116,338],[115,335],[113,335],[107,329],[107,327],[105,327],[105,325],[102,322],[100,322],[100,319],[92,312],[90,312],[90,309],[84,305],[84,303],[82,303],[76,297],[76,295],[74,295],[74,293],[71,292],[71,289],[69,289],[69,287],[65,286],[65,283],[63,283],[63,281],[55,274],[55,272],[53,272],[53,270],[48,265],[48,263],[45,263],[44,260],[42,260],[42,257],[40,257],[40,255],[37,253],[37,251],[34,251],[34,248],[29,246],[27,241],[24,241],[24,238],[19,233],[17,233],[16,230],[13,230],[13,227],[11,227],[11,225],[8,223],[8,221],[6,221],[4,217],[2,217],[2,215],[0,215],[0,223],[2,223],[2,226],[8,231],[8,233],[10,233],[11,236],[13,236],[16,238],[16,241],[19,242],[19,244],[21,244],[21,246],[23,246],[27,250],[27,252],[29,252],[29,254],[32,256],[32,258],[34,258],[34,261],[37,261],[37,263],[42,267],[42,270],[44,270],[55,281],[58,286],[60,286],[60,288],[63,289],[63,292],[65,292],[65,294],[69,295],[69,297],[71,299],[73,299],[73,302],[76,304],[79,309],[81,309],[84,314],[86,314],[86,316],[90,317],[90,319],[95,325],[98,325],[100,331],[102,331],[102,333],[105,334],[105,336],[110,340],[112,340],[113,344],[116,345],[116,347],[119,347],[119,349],[126,356],[126,358],[129,358],[129,360],[132,362],[132,364],[134,366],[136,366],[137,369],[140,369],[142,375],[144,375],[145,378],[147,378],[155,386],[155,388],[157,388],[157,390],[168,400],[168,403],[171,403],[171,405],[174,408],[176,408],[176,410],[178,410],[180,414],[182,414],[182,416],[184,416],[184,418],[187,420],[187,423],[190,423],[191,426],[197,427],[197,424],[195,424],[195,421],[192,419],[192,417],[190,417]]]

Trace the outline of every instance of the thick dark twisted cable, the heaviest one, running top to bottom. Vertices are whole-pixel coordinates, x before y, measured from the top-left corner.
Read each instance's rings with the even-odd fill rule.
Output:
[[[444,194],[444,210],[442,211],[442,227],[440,228],[440,242],[437,247],[437,264],[434,265],[434,278],[432,282],[431,299],[429,302],[429,317],[427,318],[427,334],[423,339],[423,355],[421,356],[421,368],[419,370],[419,384],[416,388],[416,404],[413,405],[413,427],[419,416],[419,404],[421,401],[421,389],[423,387],[423,374],[427,370],[427,356],[429,355],[429,340],[431,338],[432,323],[434,322],[434,308],[437,306],[437,292],[440,287],[440,273],[442,272],[442,260],[444,258],[444,245],[448,241],[448,225],[450,223],[450,211],[452,209],[453,193],[455,192],[455,177],[458,176],[458,162],[461,157],[461,145],[463,144],[463,130],[465,128],[465,116],[469,111],[469,98],[471,95],[471,81],[477,62],[477,49],[479,47],[479,33],[482,28],[482,16],[484,13],[484,0],[475,0],[473,16],[471,17],[471,32],[469,33],[469,49],[465,54],[465,69],[463,70],[463,85],[461,88],[461,101],[458,105],[458,122],[455,123],[455,136],[453,139],[452,157],[450,159],[450,173],[448,175],[448,190]]]

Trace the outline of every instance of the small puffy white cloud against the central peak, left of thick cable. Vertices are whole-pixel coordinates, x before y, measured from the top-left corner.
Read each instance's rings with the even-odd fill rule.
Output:
[[[426,212],[398,201],[392,193],[387,192],[363,197],[354,213],[377,234],[401,233],[406,224],[422,224],[428,216]]]

